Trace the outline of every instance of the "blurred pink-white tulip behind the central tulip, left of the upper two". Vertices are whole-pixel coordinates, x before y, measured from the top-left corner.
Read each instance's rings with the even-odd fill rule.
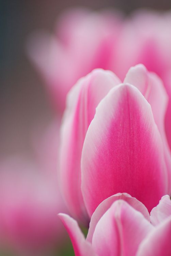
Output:
[[[80,77],[94,68],[110,69],[120,27],[119,13],[74,9],[61,15],[54,35],[33,35],[29,56],[58,110],[64,109],[66,94]]]

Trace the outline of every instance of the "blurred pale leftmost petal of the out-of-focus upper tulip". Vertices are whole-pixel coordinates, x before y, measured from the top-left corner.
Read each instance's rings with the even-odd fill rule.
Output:
[[[73,59],[68,50],[54,35],[40,31],[30,36],[27,52],[43,78],[51,103],[58,112],[63,110],[66,94],[76,82]]]

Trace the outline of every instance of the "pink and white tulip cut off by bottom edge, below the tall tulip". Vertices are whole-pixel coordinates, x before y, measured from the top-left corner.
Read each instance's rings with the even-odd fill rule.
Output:
[[[117,194],[100,203],[92,215],[87,239],[74,219],[66,214],[59,216],[75,256],[171,254],[171,216],[154,227],[145,206],[128,194]]]

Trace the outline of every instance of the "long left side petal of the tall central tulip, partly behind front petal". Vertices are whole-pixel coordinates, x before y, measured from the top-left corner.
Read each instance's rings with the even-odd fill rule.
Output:
[[[60,183],[66,203],[81,221],[87,218],[81,194],[81,151],[95,109],[108,91],[120,83],[110,71],[97,69],[79,80],[67,97],[61,127]]]

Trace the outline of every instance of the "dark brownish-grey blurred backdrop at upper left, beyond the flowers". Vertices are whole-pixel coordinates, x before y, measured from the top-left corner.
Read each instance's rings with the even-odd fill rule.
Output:
[[[116,8],[126,15],[137,8],[169,10],[170,0],[34,0],[1,2],[0,40],[0,157],[29,152],[33,126],[45,125],[53,115],[42,80],[26,54],[26,41],[38,29],[53,31],[58,15],[66,8],[93,10]]]

